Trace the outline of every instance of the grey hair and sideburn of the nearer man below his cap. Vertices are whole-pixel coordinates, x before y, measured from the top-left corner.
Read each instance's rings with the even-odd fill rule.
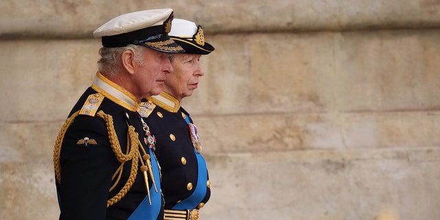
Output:
[[[113,77],[122,69],[121,54],[126,50],[131,50],[135,54],[137,65],[144,65],[142,54],[146,50],[141,45],[126,45],[125,47],[101,47],[99,54],[101,58],[98,61],[98,70],[104,76]]]

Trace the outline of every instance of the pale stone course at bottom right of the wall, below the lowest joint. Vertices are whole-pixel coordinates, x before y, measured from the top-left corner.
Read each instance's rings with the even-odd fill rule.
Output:
[[[208,156],[205,219],[439,219],[439,148]]]

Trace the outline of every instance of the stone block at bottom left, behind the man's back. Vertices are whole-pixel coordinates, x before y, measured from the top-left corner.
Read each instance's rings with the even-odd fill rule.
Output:
[[[0,172],[2,219],[58,219],[52,162],[1,162]]]

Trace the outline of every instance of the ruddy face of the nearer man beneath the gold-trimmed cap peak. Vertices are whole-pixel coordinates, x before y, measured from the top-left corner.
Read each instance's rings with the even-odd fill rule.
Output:
[[[146,48],[142,55],[143,65],[136,65],[133,82],[140,96],[146,98],[160,93],[166,75],[173,72],[173,66],[164,52]]]

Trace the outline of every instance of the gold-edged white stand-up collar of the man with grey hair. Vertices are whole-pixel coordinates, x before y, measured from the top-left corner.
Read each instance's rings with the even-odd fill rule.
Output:
[[[139,101],[133,94],[116,83],[111,82],[111,80],[105,78],[100,72],[96,73],[91,88],[130,111],[136,111],[139,107]]]

